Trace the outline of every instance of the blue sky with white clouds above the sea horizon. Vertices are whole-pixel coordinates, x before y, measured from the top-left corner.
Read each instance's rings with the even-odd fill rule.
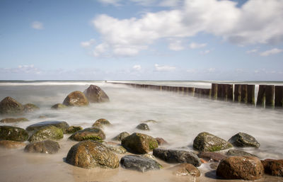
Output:
[[[283,80],[283,0],[0,0],[0,80]]]

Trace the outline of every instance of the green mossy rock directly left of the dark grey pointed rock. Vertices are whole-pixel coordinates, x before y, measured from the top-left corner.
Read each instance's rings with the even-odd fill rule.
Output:
[[[226,140],[216,137],[209,132],[201,132],[195,137],[193,147],[203,152],[214,152],[229,149],[233,146],[229,142],[226,142]]]

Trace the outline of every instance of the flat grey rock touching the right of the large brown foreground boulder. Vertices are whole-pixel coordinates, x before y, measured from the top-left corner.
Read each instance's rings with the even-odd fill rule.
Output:
[[[126,155],[122,157],[120,163],[125,169],[132,169],[143,173],[162,168],[161,164],[158,164],[157,161],[136,155]]]

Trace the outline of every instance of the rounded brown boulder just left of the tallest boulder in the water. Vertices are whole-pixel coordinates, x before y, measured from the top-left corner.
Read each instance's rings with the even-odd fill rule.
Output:
[[[73,91],[64,99],[66,106],[88,106],[88,99],[81,91]]]

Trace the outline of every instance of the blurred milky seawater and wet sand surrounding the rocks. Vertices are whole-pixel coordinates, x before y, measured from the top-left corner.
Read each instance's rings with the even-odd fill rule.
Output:
[[[211,82],[208,81],[144,81],[142,83],[200,88],[211,86]],[[108,94],[110,102],[91,103],[86,107],[64,110],[50,108],[55,103],[62,103],[71,91],[84,91],[90,84],[100,86]],[[265,84],[282,85],[282,82]],[[85,128],[91,127],[99,118],[106,118],[112,123],[112,127],[103,129],[106,135],[105,140],[110,141],[120,132],[141,132],[135,128],[139,123],[145,120],[156,120],[157,123],[148,123],[149,131],[142,132],[153,137],[163,137],[170,148],[188,147],[193,150],[193,140],[198,133],[204,131],[224,140],[229,140],[238,132],[246,132],[260,142],[259,149],[246,148],[246,152],[251,152],[260,159],[283,158],[283,110],[255,108],[239,103],[212,101],[166,91],[138,90],[104,81],[2,81],[0,100],[6,96],[11,96],[21,103],[34,103],[40,107],[40,110],[35,113],[24,115],[30,121],[11,124],[18,127],[25,128],[45,120],[64,120],[69,125],[80,125]],[[45,115],[47,118],[39,118],[40,115]],[[0,120],[3,118],[6,117],[1,115]],[[22,149],[9,151],[1,149],[0,181],[21,181],[21,179],[25,181],[39,179],[41,181],[142,181],[139,177],[139,179],[134,178],[141,177],[143,174],[121,167],[112,171],[109,169],[91,171],[64,163],[63,158],[67,156],[72,144],[76,143],[67,140],[67,137],[69,135],[65,135],[59,142],[62,149],[59,154],[54,155],[25,154]],[[166,168],[171,164],[163,163],[163,166]],[[206,164],[202,164],[200,169],[209,171]],[[149,177],[150,181],[166,181],[166,179],[178,181],[178,178],[161,177],[161,171],[150,171],[144,175]],[[50,176],[42,179],[43,174]],[[52,175],[57,177],[52,178]],[[211,178],[209,175],[202,174],[201,179],[214,181],[214,177],[213,174]]]

